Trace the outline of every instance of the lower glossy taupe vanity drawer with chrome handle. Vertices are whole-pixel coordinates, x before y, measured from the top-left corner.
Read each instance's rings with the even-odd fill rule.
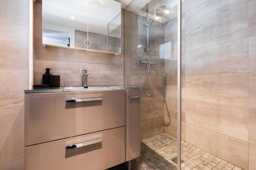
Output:
[[[25,170],[102,170],[123,162],[125,127],[25,147]]]

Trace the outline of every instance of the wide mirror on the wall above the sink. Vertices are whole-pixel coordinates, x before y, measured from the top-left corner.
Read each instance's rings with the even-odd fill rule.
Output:
[[[42,43],[121,53],[121,4],[113,0],[43,0]]]

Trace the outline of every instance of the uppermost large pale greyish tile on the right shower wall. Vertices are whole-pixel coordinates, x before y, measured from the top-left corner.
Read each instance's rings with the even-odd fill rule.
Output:
[[[246,38],[247,11],[248,0],[207,1],[189,10],[185,15],[186,51]]]

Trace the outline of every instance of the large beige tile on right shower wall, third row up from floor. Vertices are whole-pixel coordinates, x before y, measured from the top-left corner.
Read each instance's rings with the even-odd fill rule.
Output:
[[[186,75],[186,99],[248,105],[248,73]]]

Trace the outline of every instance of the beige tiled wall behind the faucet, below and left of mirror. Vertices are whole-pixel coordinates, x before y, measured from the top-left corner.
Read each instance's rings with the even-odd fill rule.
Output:
[[[44,47],[41,39],[41,3],[35,4],[34,84],[41,84],[45,68],[60,75],[60,86],[81,86],[82,70],[88,69],[89,86],[123,85],[123,54],[115,56],[97,52]]]

